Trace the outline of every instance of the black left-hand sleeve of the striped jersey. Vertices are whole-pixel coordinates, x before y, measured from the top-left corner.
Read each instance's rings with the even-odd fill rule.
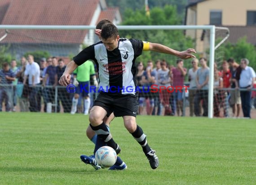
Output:
[[[84,62],[88,60],[95,61],[95,52],[94,52],[94,45],[90,45],[87,48],[84,48],[78,55],[73,57],[73,61],[78,65],[82,65]]]

